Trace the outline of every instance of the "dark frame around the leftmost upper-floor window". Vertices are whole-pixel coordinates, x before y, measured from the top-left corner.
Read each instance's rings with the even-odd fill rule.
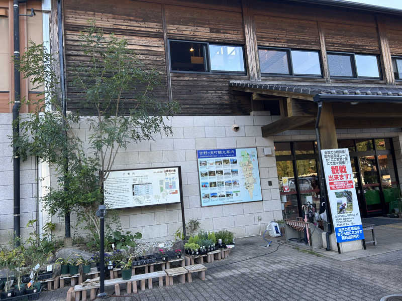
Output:
[[[198,44],[205,44],[206,45],[206,50],[205,50],[205,65],[208,68],[208,71],[184,71],[184,70],[172,70],[172,57],[170,53],[170,42],[185,42],[185,43],[198,43]],[[192,74],[223,74],[223,75],[247,75],[247,64],[246,64],[246,56],[245,56],[245,50],[244,50],[244,45],[241,44],[229,44],[229,43],[210,43],[210,42],[202,42],[202,41],[191,41],[191,40],[177,40],[177,39],[168,39],[167,40],[168,44],[168,56],[169,56],[169,69],[170,73],[192,73]],[[243,53],[243,67],[244,71],[214,71],[211,70],[211,56],[210,56],[210,45],[214,46],[233,46],[233,47],[241,47],[242,48],[242,53]]]

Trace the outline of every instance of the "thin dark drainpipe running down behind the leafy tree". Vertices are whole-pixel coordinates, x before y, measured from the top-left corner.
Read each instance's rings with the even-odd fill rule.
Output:
[[[58,42],[59,42],[59,61],[60,61],[60,88],[61,88],[61,113],[64,118],[62,119],[62,130],[63,135],[66,135],[66,121],[65,117],[67,114],[67,104],[66,104],[66,85],[65,85],[65,77],[64,77],[64,48],[63,48],[63,22],[62,22],[62,3],[61,0],[57,0],[57,33],[58,33]],[[68,158],[65,158],[64,171],[68,171]],[[64,185],[64,190],[66,191],[67,185]],[[66,240],[70,239],[70,212],[66,213],[65,216],[65,244],[70,244]]]

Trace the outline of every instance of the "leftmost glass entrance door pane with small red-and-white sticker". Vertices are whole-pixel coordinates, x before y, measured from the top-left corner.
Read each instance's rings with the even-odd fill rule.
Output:
[[[278,170],[278,183],[280,202],[283,218],[296,219],[299,216],[297,203],[297,190],[294,181],[293,162],[279,161],[276,163]],[[282,178],[288,178],[288,187],[284,188]]]

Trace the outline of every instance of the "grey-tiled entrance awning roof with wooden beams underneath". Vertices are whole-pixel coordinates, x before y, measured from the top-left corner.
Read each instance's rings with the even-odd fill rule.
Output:
[[[263,137],[288,129],[313,129],[314,102],[319,101],[333,103],[337,128],[402,127],[402,87],[268,81],[230,81],[229,86],[253,93],[253,99],[265,100],[254,97],[262,94],[276,97],[266,101],[279,101],[281,119],[262,126]]]

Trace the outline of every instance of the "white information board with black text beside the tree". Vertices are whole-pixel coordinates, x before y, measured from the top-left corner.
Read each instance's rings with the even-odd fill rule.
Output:
[[[174,204],[181,200],[180,167],[111,171],[104,183],[110,209]]]

